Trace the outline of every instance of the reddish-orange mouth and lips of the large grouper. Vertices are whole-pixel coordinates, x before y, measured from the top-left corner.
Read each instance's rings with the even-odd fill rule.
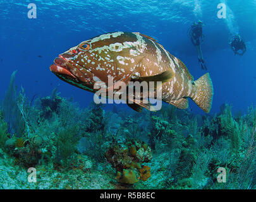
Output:
[[[70,76],[71,78],[74,78],[76,80],[76,76],[72,74],[69,70],[70,65],[71,64],[66,61],[62,56],[59,56],[54,59],[54,64],[50,66],[50,70],[57,76],[59,74],[62,76]]]

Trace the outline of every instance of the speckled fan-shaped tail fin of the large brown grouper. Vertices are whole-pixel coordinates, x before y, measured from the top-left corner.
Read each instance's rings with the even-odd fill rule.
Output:
[[[204,112],[209,113],[212,108],[213,86],[210,74],[204,74],[195,81],[196,92],[192,97],[195,104],[198,105]]]

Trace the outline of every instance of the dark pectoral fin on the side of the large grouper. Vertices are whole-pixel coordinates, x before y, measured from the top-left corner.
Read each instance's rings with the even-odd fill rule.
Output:
[[[147,83],[149,83],[150,81],[155,81],[155,82],[162,81],[162,83],[164,83],[166,81],[169,81],[171,78],[173,78],[173,76],[174,76],[173,71],[167,70],[161,74],[157,74],[154,76],[133,77],[131,81],[139,81],[139,82],[146,81]],[[155,83],[155,88],[157,87],[156,85],[157,83]]]

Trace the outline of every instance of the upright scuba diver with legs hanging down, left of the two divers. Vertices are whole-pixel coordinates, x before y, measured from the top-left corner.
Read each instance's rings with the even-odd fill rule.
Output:
[[[201,43],[204,42],[204,35],[203,35],[203,22],[198,21],[198,23],[193,23],[193,25],[188,30],[188,35],[190,36],[190,39],[192,40],[192,44],[195,46],[195,49],[197,50],[197,57],[198,62],[202,69],[207,69],[204,58],[202,55],[201,50]]]

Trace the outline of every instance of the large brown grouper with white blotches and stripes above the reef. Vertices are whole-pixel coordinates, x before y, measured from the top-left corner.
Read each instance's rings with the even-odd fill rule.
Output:
[[[162,101],[168,104],[186,109],[189,97],[207,113],[212,105],[209,73],[194,81],[180,59],[141,33],[113,32],[85,40],[60,54],[50,69],[61,80],[93,93],[99,90],[94,87],[99,81],[107,89],[121,81],[162,81],[155,89],[161,88]],[[107,85],[110,76],[113,86]],[[148,109],[140,102],[128,105],[137,111]]]

